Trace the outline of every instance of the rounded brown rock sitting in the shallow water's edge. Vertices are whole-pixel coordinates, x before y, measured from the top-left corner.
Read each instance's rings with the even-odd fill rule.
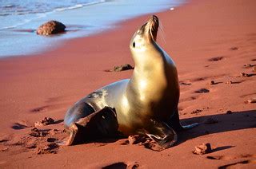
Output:
[[[37,34],[40,35],[51,35],[56,33],[65,32],[66,26],[64,26],[61,22],[50,21],[42,24],[37,29]]]

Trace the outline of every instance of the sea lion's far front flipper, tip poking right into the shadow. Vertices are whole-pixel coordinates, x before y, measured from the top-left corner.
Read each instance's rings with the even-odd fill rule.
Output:
[[[182,124],[180,124],[179,116],[178,116],[178,109],[174,112],[174,116],[172,116],[170,118],[170,120],[168,120],[166,122],[166,124],[168,124],[168,126],[170,126],[170,128],[173,128],[174,131],[176,131],[176,132],[180,132],[182,130],[187,130],[187,129],[190,129],[190,128],[194,128],[194,127],[199,125],[198,123],[184,125],[184,126]]]

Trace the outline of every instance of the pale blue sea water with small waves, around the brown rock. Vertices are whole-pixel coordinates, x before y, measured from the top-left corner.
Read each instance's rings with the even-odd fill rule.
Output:
[[[0,0],[0,57],[40,53],[63,39],[90,36],[142,14],[179,6],[184,0]],[[66,33],[38,36],[42,23],[56,20]]]

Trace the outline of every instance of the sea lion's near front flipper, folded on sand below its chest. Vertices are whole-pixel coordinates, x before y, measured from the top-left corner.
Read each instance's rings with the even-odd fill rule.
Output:
[[[172,128],[170,128],[164,122],[150,119],[146,129],[146,136],[154,140],[157,145],[146,146],[154,151],[162,151],[168,147],[171,147],[177,141],[177,134]]]

